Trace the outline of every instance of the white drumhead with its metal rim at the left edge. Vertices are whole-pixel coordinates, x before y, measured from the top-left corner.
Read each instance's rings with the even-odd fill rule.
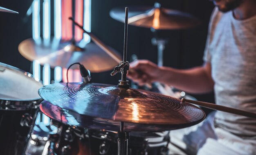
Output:
[[[38,90],[42,86],[29,72],[0,63],[0,110],[34,108],[41,99]]]

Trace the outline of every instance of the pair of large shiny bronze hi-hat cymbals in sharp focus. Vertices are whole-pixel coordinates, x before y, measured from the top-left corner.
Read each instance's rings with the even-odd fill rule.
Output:
[[[161,131],[189,127],[205,117],[201,109],[180,103],[179,99],[132,88],[97,83],[55,83],[41,87],[38,92],[49,102],[40,106],[43,113],[65,124],[81,127],[92,128],[91,123],[84,121],[91,120],[96,123],[95,129],[117,131],[120,122],[126,122],[130,126],[124,127],[124,131]]]

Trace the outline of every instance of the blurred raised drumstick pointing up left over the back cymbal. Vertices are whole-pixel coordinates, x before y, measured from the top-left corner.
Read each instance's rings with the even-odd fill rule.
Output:
[[[83,32],[85,32],[86,34],[88,34],[92,40],[94,41],[95,44],[97,44],[102,50],[104,50],[106,53],[108,53],[108,55],[110,55],[110,57],[112,57],[115,61],[117,61],[117,63],[120,63],[121,59],[119,59],[119,57],[117,57],[117,55],[114,54],[114,52],[108,47],[106,46],[100,39],[98,39],[95,35],[93,35],[91,32],[87,32],[85,31],[85,29],[83,29],[83,26],[79,25],[78,23],[75,22],[75,20],[72,17],[69,17],[70,20],[72,20],[72,22],[78,26],[79,28],[81,28],[81,30],[83,30]]]

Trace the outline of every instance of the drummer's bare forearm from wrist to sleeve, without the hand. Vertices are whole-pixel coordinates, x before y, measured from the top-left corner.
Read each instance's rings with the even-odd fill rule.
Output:
[[[160,76],[157,81],[172,85],[173,87],[190,93],[205,93],[213,90],[211,78],[211,63],[186,69],[178,70],[169,67],[159,68]]]

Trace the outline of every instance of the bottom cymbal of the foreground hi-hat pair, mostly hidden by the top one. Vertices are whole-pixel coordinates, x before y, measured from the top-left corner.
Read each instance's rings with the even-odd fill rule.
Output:
[[[108,120],[103,118],[96,118],[78,114],[72,110],[62,109],[53,105],[47,101],[43,101],[39,105],[40,110],[48,117],[61,122],[66,125],[74,127],[83,127],[90,129],[99,129],[107,131],[119,131],[120,130],[120,121],[117,120]],[[203,114],[202,114],[203,115]],[[156,114],[156,117],[160,117]],[[194,124],[198,124],[204,119],[202,116],[198,121],[186,123],[186,124],[140,124],[140,123],[124,123],[125,132],[156,132],[156,131],[166,131],[172,129],[180,129],[184,127],[189,127]]]

